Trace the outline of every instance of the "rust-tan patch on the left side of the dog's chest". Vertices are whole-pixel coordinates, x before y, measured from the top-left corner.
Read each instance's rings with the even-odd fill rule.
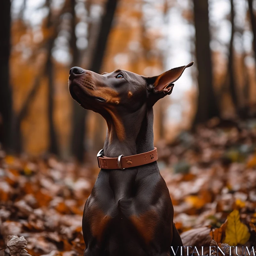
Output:
[[[112,218],[108,215],[105,215],[97,206],[93,206],[91,208],[90,215],[90,227],[92,236],[96,237],[98,241],[101,241],[106,225]]]

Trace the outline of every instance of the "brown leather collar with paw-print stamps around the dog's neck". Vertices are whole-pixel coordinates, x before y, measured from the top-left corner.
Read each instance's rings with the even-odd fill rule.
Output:
[[[103,149],[101,149],[97,158],[101,169],[125,169],[155,162],[157,160],[157,151],[154,148],[154,150],[133,156],[106,157],[103,156]]]

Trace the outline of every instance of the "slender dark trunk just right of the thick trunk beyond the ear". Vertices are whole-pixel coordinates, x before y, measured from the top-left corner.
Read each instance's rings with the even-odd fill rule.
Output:
[[[228,81],[229,81],[229,89],[231,93],[232,102],[236,109],[236,113],[238,112],[238,99],[237,99],[237,89],[236,89],[236,79],[235,79],[235,67],[234,67],[234,33],[235,33],[235,11],[234,11],[234,3],[233,0],[230,0],[231,11],[230,11],[230,22],[231,22],[231,36],[229,43],[229,56],[228,56]]]

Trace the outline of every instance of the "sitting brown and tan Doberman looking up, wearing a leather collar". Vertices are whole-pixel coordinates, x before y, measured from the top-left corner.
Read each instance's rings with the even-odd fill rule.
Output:
[[[70,69],[72,98],[107,122],[97,156],[101,170],[84,206],[84,256],[167,256],[176,250],[184,255],[156,162],[153,106],[172,93],[173,83],[193,63],[153,77],[120,69],[101,75]]]

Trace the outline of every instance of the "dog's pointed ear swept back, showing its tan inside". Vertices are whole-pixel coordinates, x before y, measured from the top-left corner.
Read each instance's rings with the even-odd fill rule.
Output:
[[[163,98],[166,94],[171,94],[174,86],[174,82],[177,81],[184,70],[191,67],[194,61],[190,62],[187,66],[182,66],[179,68],[172,68],[159,76],[145,77],[147,88],[149,91],[153,92],[151,94],[151,99],[155,101]]]

